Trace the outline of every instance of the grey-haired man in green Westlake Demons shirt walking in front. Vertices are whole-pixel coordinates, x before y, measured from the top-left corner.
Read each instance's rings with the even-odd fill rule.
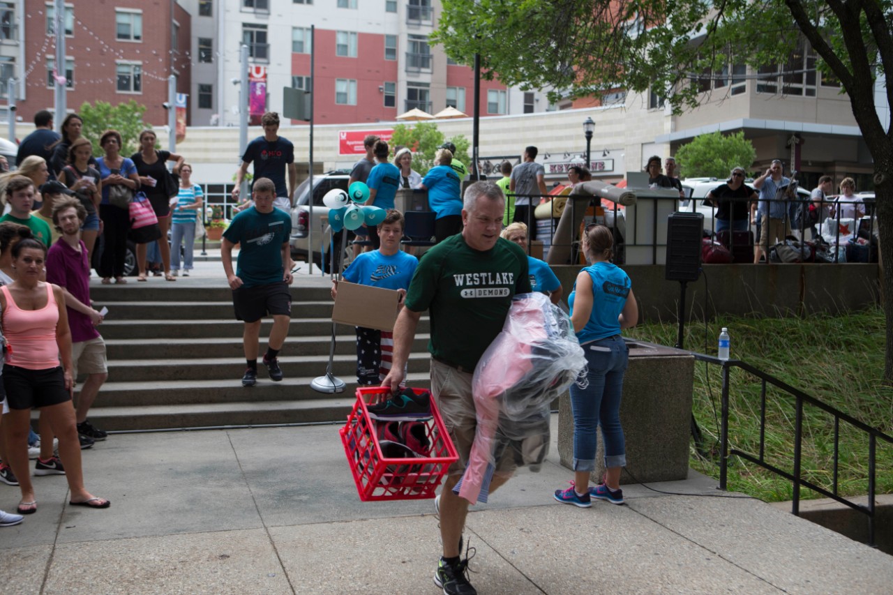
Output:
[[[475,595],[462,559],[462,532],[469,503],[453,493],[468,463],[474,441],[472,375],[480,356],[502,331],[516,293],[530,292],[527,255],[500,239],[505,210],[502,189],[475,182],[465,190],[462,233],[440,242],[421,259],[394,327],[394,361],[381,385],[395,393],[404,379],[406,360],[421,314],[429,311],[431,391],[459,460],[449,469],[437,500],[443,557],[434,582],[447,595]],[[497,461],[493,492],[515,468],[513,457]]]

